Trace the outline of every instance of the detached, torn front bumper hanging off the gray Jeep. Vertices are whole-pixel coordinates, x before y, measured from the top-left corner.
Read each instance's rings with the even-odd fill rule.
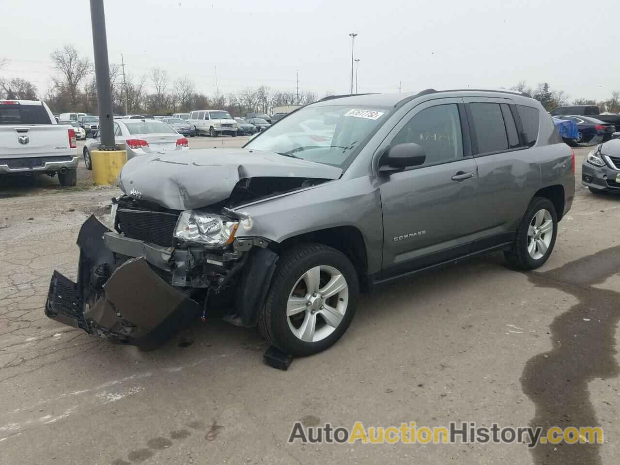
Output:
[[[55,271],[45,314],[89,334],[130,343],[167,339],[185,314],[200,311],[200,304],[169,285],[144,256],[119,258],[105,247],[106,233],[112,234],[94,216],[82,225],[78,282]]]

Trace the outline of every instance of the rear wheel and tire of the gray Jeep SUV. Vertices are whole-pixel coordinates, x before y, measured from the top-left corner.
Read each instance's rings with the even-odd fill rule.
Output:
[[[556,207],[548,198],[534,197],[516,229],[515,241],[511,249],[504,252],[504,257],[519,270],[534,270],[549,259],[556,236]]]

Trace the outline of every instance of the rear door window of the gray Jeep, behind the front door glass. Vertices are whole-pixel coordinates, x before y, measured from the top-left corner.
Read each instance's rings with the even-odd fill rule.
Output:
[[[498,152],[508,149],[506,127],[500,104],[469,104],[478,153]]]

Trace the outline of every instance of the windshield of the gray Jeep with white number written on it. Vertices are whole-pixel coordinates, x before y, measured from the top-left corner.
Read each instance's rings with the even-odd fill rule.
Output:
[[[389,108],[306,107],[260,133],[246,148],[343,167],[388,117]]]

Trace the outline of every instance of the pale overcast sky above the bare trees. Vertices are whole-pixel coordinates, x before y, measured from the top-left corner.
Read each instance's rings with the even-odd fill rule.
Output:
[[[1,77],[30,79],[43,93],[51,51],[71,44],[92,59],[87,0],[2,0],[1,11],[0,58],[11,60]],[[595,30],[605,12],[617,14],[618,0],[588,9],[578,0],[105,0],[110,63],[123,53],[133,76],[159,67],[206,94],[215,93],[214,67],[223,93],[292,91],[296,71],[300,92],[348,93],[356,32],[359,92],[525,80],[606,99],[620,89],[620,60],[617,27]]]

